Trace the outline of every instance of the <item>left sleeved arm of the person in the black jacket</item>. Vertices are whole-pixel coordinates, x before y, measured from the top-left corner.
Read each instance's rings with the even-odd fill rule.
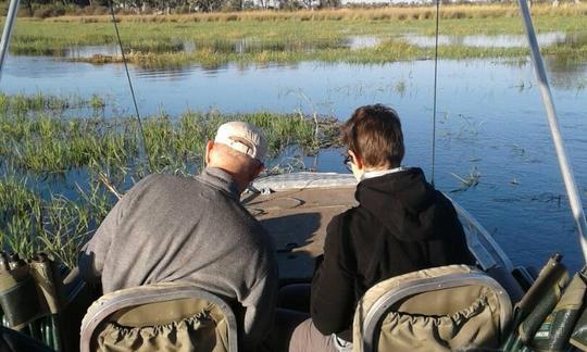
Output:
[[[324,335],[341,332],[354,313],[354,275],[349,269],[349,255],[344,246],[344,217],[333,218],[326,229],[324,261],[312,280],[311,314]]]

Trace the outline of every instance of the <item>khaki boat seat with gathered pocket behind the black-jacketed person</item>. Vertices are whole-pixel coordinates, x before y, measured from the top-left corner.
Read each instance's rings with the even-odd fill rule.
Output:
[[[505,290],[466,265],[382,281],[359,301],[353,352],[497,348],[511,319]]]

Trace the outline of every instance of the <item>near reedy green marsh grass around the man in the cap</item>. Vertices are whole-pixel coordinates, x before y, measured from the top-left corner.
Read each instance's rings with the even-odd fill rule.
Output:
[[[117,197],[148,173],[192,175],[203,147],[226,121],[261,127],[270,172],[291,146],[316,152],[336,140],[333,120],[259,112],[186,112],[143,121],[149,163],[140,154],[135,118],[104,116],[93,97],[0,95],[0,246],[30,256],[45,251],[74,265],[76,251]],[[84,117],[84,118],[78,118]],[[316,125],[317,124],[317,125]],[[316,133],[317,126],[317,133]]]

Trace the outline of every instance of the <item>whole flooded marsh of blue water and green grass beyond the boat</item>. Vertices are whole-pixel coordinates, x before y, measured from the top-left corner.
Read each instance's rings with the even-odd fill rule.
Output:
[[[541,43],[542,52],[579,184],[587,175],[585,153],[576,152],[585,146],[585,9],[533,7],[539,41],[553,38]],[[442,5],[441,17],[447,39],[440,56],[465,60],[439,62],[444,117],[436,185],[455,190],[457,201],[499,229],[496,239],[508,243],[516,263],[548,255],[552,246],[536,237],[560,231],[567,211],[564,201],[540,197],[564,189],[557,186],[560,175],[517,9]],[[130,74],[140,110],[149,115],[147,159],[136,121],[125,110],[132,102],[121,66],[108,64],[120,61],[110,17],[18,18],[12,47],[17,55],[9,56],[2,77],[12,96],[0,97],[1,244],[24,253],[49,251],[73,265],[76,247],[149,164],[154,172],[198,173],[200,142],[225,118],[248,118],[274,134],[272,172],[303,168],[304,162],[345,172],[345,151],[321,149],[335,139],[336,123],[316,114],[316,135],[314,112],[345,120],[360,104],[384,102],[405,123],[407,163],[429,171],[434,63],[414,59],[433,56],[427,42],[434,23],[432,8],[123,15],[122,39],[135,63]],[[316,150],[315,160],[290,158]],[[517,205],[505,209],[503,199]],[[574,238],[561,241],[560,250],[573,248]],[[575,254],[570,257],[583,263]]]

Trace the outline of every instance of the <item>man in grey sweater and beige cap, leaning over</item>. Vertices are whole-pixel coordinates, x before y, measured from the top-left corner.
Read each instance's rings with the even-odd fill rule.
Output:
[[[222,125],[207,143],[201,175],[150,175],[116,203],[84,247],[80,272],[101,277],[104,293],[186,281],[239,302],[241,341],[255,351],[272,325],[277,262],[271,237],[239,199],[265,152],[254,126]]]

